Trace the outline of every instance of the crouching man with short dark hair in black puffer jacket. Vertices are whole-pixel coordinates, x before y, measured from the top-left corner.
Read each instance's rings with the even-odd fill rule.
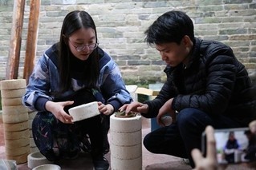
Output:
[[[120,111],[156,117],[163,127],[144,137],[145,148],[189,158],[194,167],[190,152],[201,148],[201,133],[207,125],[238,128],[254,120],[250,77],[229,46],[195,38],[192,20],[181,11],[161,15],[145,34],[145,41],[167,64],[167,81],[154,100],[133,102]],[[173,117],[172,125],[161,122],[166,113]]]

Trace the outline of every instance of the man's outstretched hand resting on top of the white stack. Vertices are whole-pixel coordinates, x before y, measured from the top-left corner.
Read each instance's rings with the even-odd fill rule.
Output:
[[[123,105],[119,109],[120,112],[123,112],[124,110],[125,113],[148,113],[148,105],[134,101],[130,104]]]

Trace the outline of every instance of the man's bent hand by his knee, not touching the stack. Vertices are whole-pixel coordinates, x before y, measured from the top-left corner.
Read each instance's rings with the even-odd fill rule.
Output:
[[[159,112],[156,117],[156,121],[158,125],[165,126],[164,122],[162,122],[162,117],[165,116],[166,113],[169,113],[169,115],[172,117],[173,122],[176,121],[176,112],[172,109],[173,104],[173,98],[169,99],[169,101],[165,102],[165,105],[159,109]]]

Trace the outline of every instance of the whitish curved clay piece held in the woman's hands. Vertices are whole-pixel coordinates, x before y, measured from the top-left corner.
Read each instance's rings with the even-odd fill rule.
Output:
[[[97,101],[76,106],[69,109],[68,112],[73,117],[73,121],[82,121],[100,114]]]

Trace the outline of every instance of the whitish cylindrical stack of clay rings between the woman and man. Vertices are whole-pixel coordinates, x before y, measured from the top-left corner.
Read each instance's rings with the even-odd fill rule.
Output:
[[[110,117],[111,168],[142,169],[141,116]]]

